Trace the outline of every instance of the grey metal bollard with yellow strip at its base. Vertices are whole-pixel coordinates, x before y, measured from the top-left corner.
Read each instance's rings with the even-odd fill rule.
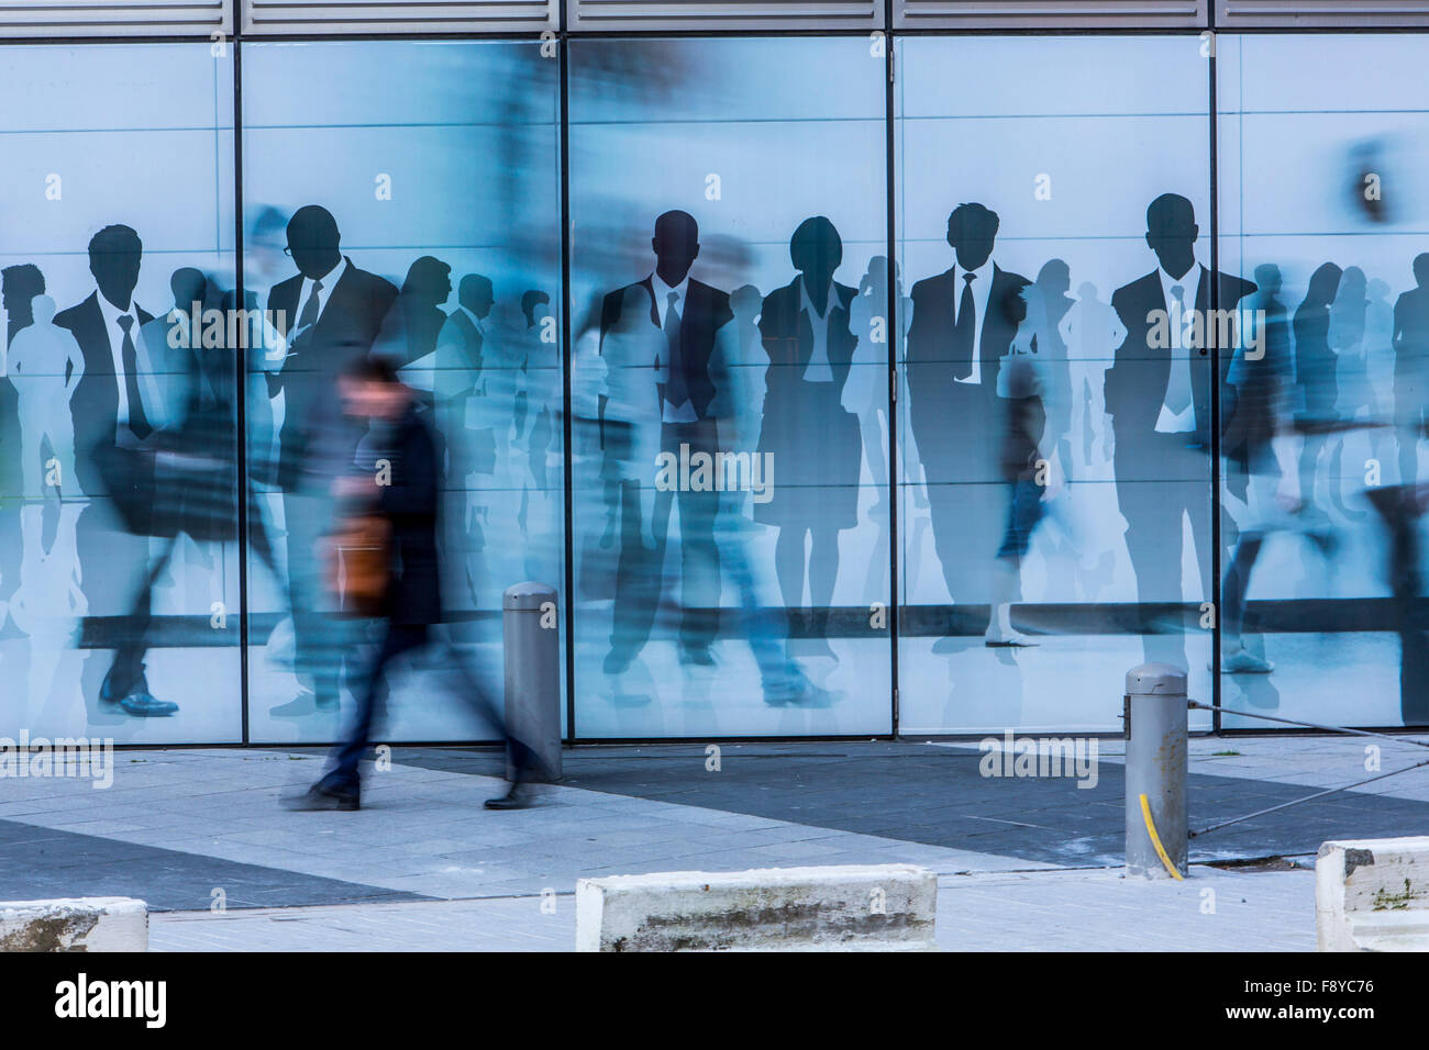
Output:
[[[1147,663],[1126,673],[1126,873],[1186,874],[1186,671]],[[1142,796],[1150,809],[1150,827]],[[1153,830],[1155,829],[1155,834]],[[1177,876],[1166,870],[1166,860]]]

